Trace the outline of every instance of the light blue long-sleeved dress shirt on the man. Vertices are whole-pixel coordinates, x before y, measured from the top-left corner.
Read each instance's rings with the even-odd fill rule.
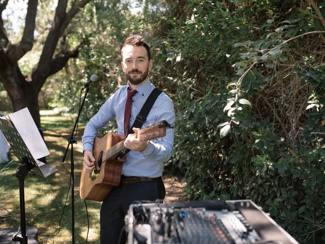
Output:
[[[117,134],[124,135],[124,108],[127,96],[127,87],[119,88],[99,109],[99,111],[87,123],[82,136],[83,150],[92,151],[93,140],[98,129],[106,126],[109,120],[116,117]],[[155,88],[148,78],[145,83],[137,87],[138,93],[133,97],[129,127],[135,121],[143,104]],[[161,93],[151,108],[147,120],[142,128],[152,125],[165,119],[169,124],[175,126],[175,111],[172,100]],[[143,151],[129,151],[126,155],[126,162],[122,167],[122,174],[125,176],[146,176],[159,177],[163,174],[164,162],[168,161],[173,154],[174,129],[166,131],[166,136],[151,140]]]

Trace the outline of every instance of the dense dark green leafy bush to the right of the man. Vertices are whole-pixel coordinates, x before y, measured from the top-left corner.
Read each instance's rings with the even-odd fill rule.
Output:
[[[321,243],[325,26],[295,1],[190,3],[165,43],[179,95],[170,165],[190,199],[252,199]]]

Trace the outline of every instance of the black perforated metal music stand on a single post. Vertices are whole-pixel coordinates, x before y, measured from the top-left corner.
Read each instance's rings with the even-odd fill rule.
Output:
[[[13,236],[13,241],[19,241],[20,243],[27,244],[27,235],[26,235],[26,220],[25,220],[25,194],[24,194],[24,179],[28,172],[37,168],[44,177],[47,177],[54,173],[57,169],[44,164],[43,162],[34,159],[31,155],[28,147],[18,133],[15,125],[10,120],[10,117],[7,119],[0,118],[0,130],[4,133],[7,141],[9,142],[11,148],[14,151],[14,154],[21,162],[16,171],[16,177],[19,181],[19,200],[20,200],[20,226],[21,234]]]

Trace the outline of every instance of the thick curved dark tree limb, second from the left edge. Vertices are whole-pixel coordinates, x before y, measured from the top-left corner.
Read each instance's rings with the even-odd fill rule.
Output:
[[[34,43],[35,21],[38,0],[29,0],[25,20],[24,33],[18,44],[8,47],[8,59],[11,64],[16,63],[26,52],[32,49]]]

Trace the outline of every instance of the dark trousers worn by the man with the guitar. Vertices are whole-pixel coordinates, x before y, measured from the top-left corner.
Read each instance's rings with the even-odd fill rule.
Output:
[[[140,183],[120,184],[113,188],[101,207],[101,244],[125,243],[124,217],[129,205],[136,200],[164,199],[165,194],[165,186],[161,178]],[[119,238],[120,243],[118,243]]]

